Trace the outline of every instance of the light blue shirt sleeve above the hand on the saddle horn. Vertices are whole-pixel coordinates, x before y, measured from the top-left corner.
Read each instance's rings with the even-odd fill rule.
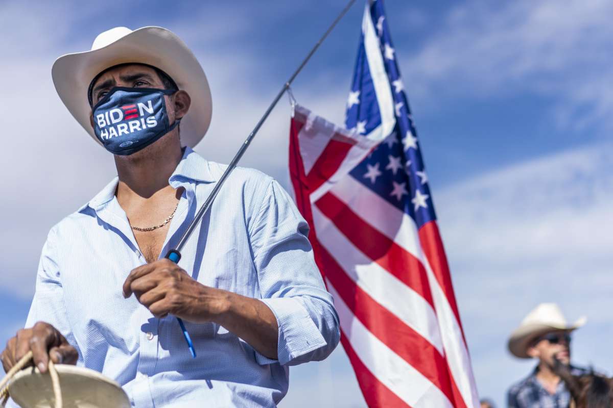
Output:
[[[32,327],[36,322],[46,322],[66,337],[79,352],[79,361],[82,362],[81,352],[75,336],[70,328],[64,303],[64,291],[61,283],[61,273],[56,262],[57,235],[55,228],[51,229],[40,254],[38,272],[36,275],[36,292],[26,319],[25,327]]]

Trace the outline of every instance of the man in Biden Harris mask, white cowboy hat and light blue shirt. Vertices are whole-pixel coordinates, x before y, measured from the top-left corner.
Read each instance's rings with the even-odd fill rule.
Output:
[[[52,76],[118,177],[51,229],[4,369],[32,351],[42,372],[49,358],[100,371],[135,407],[276,406],[289,365],[337,346],[338,316],[307,223],[255,170],[230,174],[178,264],[163,258],[226,168],[192,150],[211,120],[194,54],[167,29],[114,28]]]

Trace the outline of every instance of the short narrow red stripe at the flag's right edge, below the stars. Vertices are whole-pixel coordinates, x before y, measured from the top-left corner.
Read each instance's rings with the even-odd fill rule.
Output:
[[[451,273],[449,273],[449,264],[447,264],[443,240],[441,240],[440,233],[438,232],[436,221],[425,223],[419,229],[419,242],[421,242],[422,250],[424,251],[425,257],[428,259],[430,268],[432,268],[432,273],[436,276],[436,281],[438,281],[438,285],[443,289],[447,302],[449,302],[449,306],[451,306],[455,319],[460,326],[464,344],[466,344],[462,322],[460,322],[460,312],[455,300]]]

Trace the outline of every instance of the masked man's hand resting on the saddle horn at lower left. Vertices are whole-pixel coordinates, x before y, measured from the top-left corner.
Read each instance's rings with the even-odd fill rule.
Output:
[[[34,365],[41,373],[47,371],[49,358],[56,364],[77,364],[78,352],[55,327],[38,322],[32,328],[22,328],[6,343],[0,360],[7,373],[17,362],[32,351]]]

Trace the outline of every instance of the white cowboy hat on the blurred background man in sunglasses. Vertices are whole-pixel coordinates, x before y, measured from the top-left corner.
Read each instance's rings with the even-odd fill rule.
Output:
[[[530,343],[538,336],[555,330],[572,332],[585,324],[587,318],[580,317],[576,322],[569,325],[555,303],[541,303],[528,313],[519,327],[511,333],[509,338],[509,351],[519,358],[530,358],[527,354]]]

